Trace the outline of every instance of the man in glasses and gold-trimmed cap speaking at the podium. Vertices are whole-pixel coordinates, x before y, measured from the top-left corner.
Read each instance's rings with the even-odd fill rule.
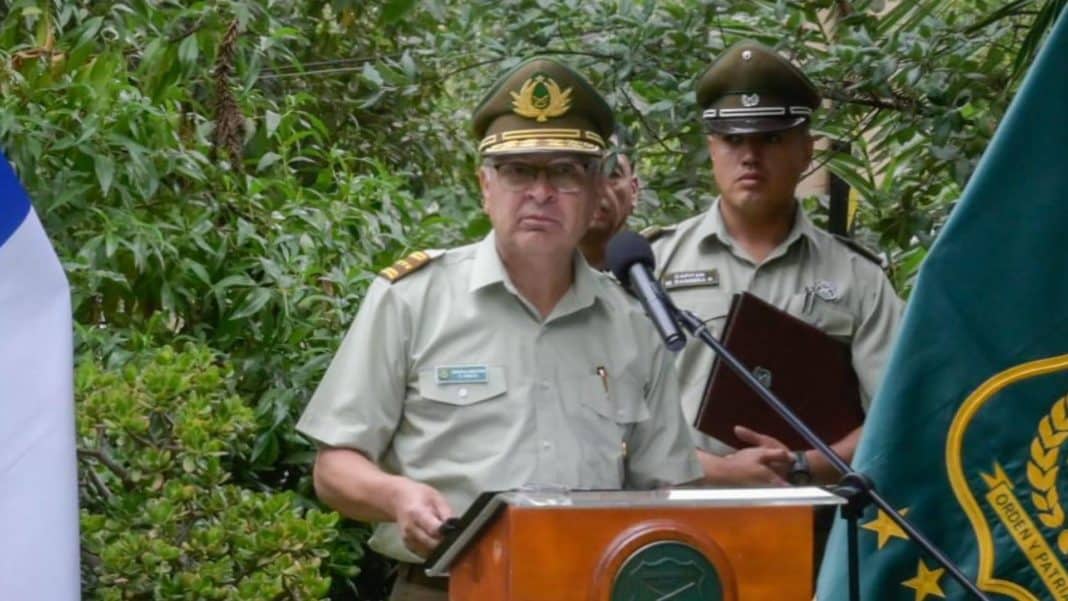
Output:
[[[577,252],[612,128],[555,61],[499,80],[474,112],[493,232],[386,269],[300,420],[319,496],[402,562],[391,599],[446,598],[418,563],[481,491],[701,477],[671,358]]]

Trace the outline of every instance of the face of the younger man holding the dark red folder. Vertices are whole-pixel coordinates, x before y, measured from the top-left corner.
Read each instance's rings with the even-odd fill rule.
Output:
[[[768,133],[708,136],[712,175],[727,207],[766,218],[794,207],[794,190],[812,162],[805,127]]]

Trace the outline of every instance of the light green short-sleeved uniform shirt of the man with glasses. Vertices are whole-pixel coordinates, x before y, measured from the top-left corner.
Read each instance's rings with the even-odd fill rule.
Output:
[[[700,478],[668,351],[616,284],[579,253],[574,267],[544,320],[492,234],[376,280],[298,429],[433,486],[457,512],[484,490]],[[371,545],[420,560],[395,523]]]

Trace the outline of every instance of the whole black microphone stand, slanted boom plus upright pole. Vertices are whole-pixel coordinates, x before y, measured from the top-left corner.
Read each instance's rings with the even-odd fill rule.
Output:
[[[666,295],[665,295],[666,296]],[[908,520],[905,519],[896,509],[894,509],[890,503],[888,503],[879,493],[875,490],[875,484],[866,475],[854,471],[849,463],[838,456],[827,443],[820,440],[808,426],[804,424],[797,415],[786,405],[783,404],[771,391],[764,386],[756,379],[755,376],[750,374],[749,369],[738,361],[734,354],[728,351],[720,341],[716,339],[716,336],[708,331],[708,327],[705,322],[690,311],[681,311],[674,305],[669,299],[668,309],[675,315],[675,319],[678,323],[686,329],[690,334],[696,338],[700,338],[706,345],[711,347],[716,354],[720,359],[727,362],[731,369],[741,378],[749,388],[760,396],[760,398],[783,417],[786,422],[801,434],[804,440],[808,442],[819,452],[820,455],[827,458],[832,465],[843,474],[842,479],[838,481],[838,486],[835,489],[835,493],[839,496],[846,499],[846,505],[842,508],[842,517],[848,521],[848,553],[849,553],[849,599],[851,601],[860,601],[861,598],[861,585],[860,585],[860,550],[858,548],[858,529],[857,522],[860,520],[861,516],[868,505],[875,504],[879,509],[890,516],[890,519],[894,521],[898,526],[905,531],[909,538],[921,549],[926,551],[936,562],[943,568],[945,568],[949,574],[960,583],[969,592],[971,592],[976,599],[981,601],[990,601],[990,598],[986,596],[977,586],[975,586],[972,581],[964,575],[964,572],[957,567],[948,557],[945,556],[934,544],[927,539],[915,526],[913,526]]]

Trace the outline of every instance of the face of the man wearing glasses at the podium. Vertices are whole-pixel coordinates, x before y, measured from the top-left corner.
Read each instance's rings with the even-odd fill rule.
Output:
[[[487,161],[478,183],[500,248],[524,254],[574,251],[595,208],[597,169],[588,158],[559,153]]]

